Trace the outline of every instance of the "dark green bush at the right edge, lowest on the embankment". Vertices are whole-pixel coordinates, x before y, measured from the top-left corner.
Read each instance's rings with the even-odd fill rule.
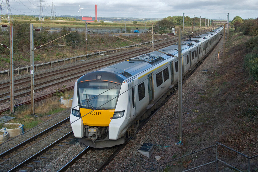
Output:
[[[253,80],[258,81],[258,54],[247,54],[244,58],[244,65]]]

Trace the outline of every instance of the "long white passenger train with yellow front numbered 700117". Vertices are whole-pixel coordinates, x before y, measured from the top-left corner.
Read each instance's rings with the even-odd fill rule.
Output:
[[[223,27],[181,42],[182,78],[212,51]],[[163,52],[163,53],[162,53]],[[94,148],[123,144],[163,97],[178,86],[178,43],[76,80],[70,121],[79,142]]]

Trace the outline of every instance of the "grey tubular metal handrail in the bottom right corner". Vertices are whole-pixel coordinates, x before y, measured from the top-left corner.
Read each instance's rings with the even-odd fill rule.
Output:
[[[191,153],[189,153],[189,154],[186,154],[186,155],[181,156],[181,157],[179,157],[179,158],[172,159],[172,160],[170,160],[170,161],[168,161],[168,162],[165,162],[165,163],[162,163],[162,164],[150,162],[150,161],[147,161],[147,160],[145,160],[145,159],[140,158],[140,159],[139,159],[139,171],[141,171],[141,164],[142,164],[141,162],[143,162],[143,161],[144,161],[144,162],[147,162],[147,163],[151,163],[151,164],[154,165],[154,166],[158,166],[158,171],[159,171],[159,169],[161,169],[161,166],[165,166],[165,165],[168,164],[168,163],[171,163],[171,162],[180,160],[180,159],[185,158],[185,157],[190,156],[190,155],[193,156],[193,154],[196,154],[196,153],[201,152],[201,151],[205,151],[205,150],[210,149],[210,148],[213,148],[213,147],[216,147],[216,149],[215,149],[215,151],[216,151],[216,158],[215,158],[215,160],[210,161],[210,162],[207,162],[207,163],[204,163],[204,164],[201,164],[201,165],[199,165],[199,166],[195,166],[195,165],[194,165],[193,168],[184,170],[184,171],[182,171],[182,172],[194,170],[194,169],[197,169],[197,168],[200,168],[200,167],[202,167],[202,166],[206,166],[206,165],[209,165],[209,164],[212,164],[212,163],[216,163],[216,172],[218,172],[218,165],[219,165],[218,163],[219,163],[219,162],[225,164],[226,166],[229,166],[229,167],[233,168],[233,169],[236,170],[236,171],[239,171],[239,172],[244,172],[244,171],[245,171],[245,170],[242,171],[242,170],[240,170],[240,169],[238,169],[238,168],[236,168],[236,167],[230,165],[229,163],[227,163],[227,162],[225,162],[225,161],[219,159],[219,157],[218,157],[218,146],[225,147],[226,149],[229,149],[230,151],[233,151],[233,152],[235,152],[235,153],[237,153],[237,154],[240,154],[240,155],[244,156],[245,158],[247,158],[247,159],[248,159],[248,172],[250,172],[250,170],[251,170],[251,169],[250,169],[250,159],[258,157],[258,155],[255,155],[255,156],[252,156],[252,157],[247,156],[247,155],[242,154],[242,153],[240,153],[240,152],[238,152],[238,151],[236,151],[236,150],[234,150],[234,149],[232,149],[232,148],[230,148],[230,147],[227,147],[227,146],[225,146],[225,145],[223,145],[223,144],[221,144],[221,143],[219,143],[219,142],[216,142],[216,143],[215,143],[214,145],[212,145],[212,146],[205,147],[205,148],[203,148],[203,149],[201,149],[201,150],[191,152]]]

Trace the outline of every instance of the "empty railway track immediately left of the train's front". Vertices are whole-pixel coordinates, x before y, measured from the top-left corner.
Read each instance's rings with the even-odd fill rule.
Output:
[[[58,147],[59,143],[69,145],[69,140],[75,139],[74,137],[71,137],[72,128],[69,127],[69,119],[70,117],[62,120],[61,122],[45,129],[44,131],[41,131],[33,137],[1,153],[0,171],[18,170],[23,166],[27,165],[29,162],[36,159],[38,156],[46,153],[47,151],[57,150],[57,148],[53,149],[53,147]],[[61,131],[63,129],[64,131]],[[23,160],[24,157],[29,158]]]

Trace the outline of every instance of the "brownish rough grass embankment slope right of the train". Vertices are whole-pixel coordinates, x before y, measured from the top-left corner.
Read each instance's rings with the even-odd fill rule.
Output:
[[[197,102],[200,102],[198,110],[201,113],[196,113],[197,117],[190,122],[192,129],[184,133],[184,147],[180,149],[180,153],[184,153],[178,156],[191,152],[190,149],[193,148],[199,150],[211,146],[216,141],[248,156],[258,154],[258,84],[249,79],[243,65],[247,52],[244,42],[249,38],[234,30],[230,31],[226,47],[226,55],[230,56],[216,71],[210,73],[205,92],[203,95],[199,94]],[[192,109],[193,112],[195,110]],[[222,147],[218,150],[221,159],[226,159],[227,163],[240,170],[247,170],[247,159],[240,159],[235,153]],[[195,165],[201,165],[206,160],[214,160],[216,154],[213,149],[197,156],[198,158],[194,158]],[[253,159],[252,163],[251,171],[257,171],[258,159]],[[180,167],[182,165],[176,164],[167,167],[166,171]],[[213,167],[207,166],[198,171],[213,170]]]

